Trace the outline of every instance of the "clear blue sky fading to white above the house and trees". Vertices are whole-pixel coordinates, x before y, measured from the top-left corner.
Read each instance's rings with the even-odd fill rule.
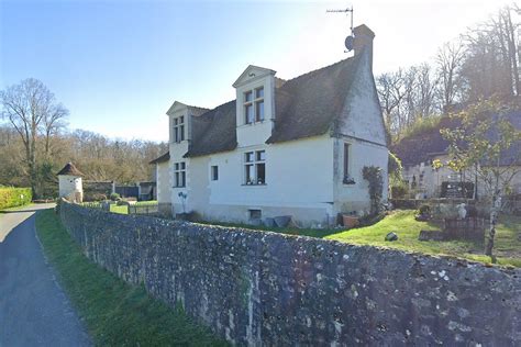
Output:
[[[348,55],[348,20],[376,33],[375,72],[420,64],[489,1],[11,1],[0,0],[0,89],[34,77],[69,110],[71,128],[165,141],[175,101],[213,108],[234,98],[250,64],[292,78]]]

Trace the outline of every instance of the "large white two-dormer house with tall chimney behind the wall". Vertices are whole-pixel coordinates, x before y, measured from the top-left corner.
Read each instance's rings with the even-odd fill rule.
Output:
[[[368,213],[362,169],[381,168],[387,187],[388,149],[375,35],[366,25],[354,35],[353,57],[290,80],[248,66],[233,83],[235,100],[215,109],[174,102],[169,152],[152,161],[159,203],[209,221],[291,215],[314,226]]]

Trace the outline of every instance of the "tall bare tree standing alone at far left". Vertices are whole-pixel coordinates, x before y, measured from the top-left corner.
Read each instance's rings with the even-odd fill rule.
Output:
[[[37,195],[36,143],[45,120],[58,109],[55,97],[42,81],[29,78],[0,91],[0,103],[2,119],[8,120],[22,139],[29,181]],[[65,110],[63,107],[59,109]],[[60,114],[65,116],[66,112],[60,111]]]

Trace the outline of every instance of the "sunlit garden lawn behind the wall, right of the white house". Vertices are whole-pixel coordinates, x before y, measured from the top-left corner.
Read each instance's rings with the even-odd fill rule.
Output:
[[[393,211],[374,225],[331,234],[325,238],[356,245],[397,248],[431,255],[448,255],[483,262],[490,261],[490,258],[483,254],[484,246],[472,242],[418,240],[420,231],[440,230],[440,227],[432,223],[415,221],[415,210]],[[521,233],[521,217],[502,215],[499,222],[494,249],[498,256],[498,264],[521,267],[521,240],[518,239],[518,235]],[[398,234],[398,240],[386,242],[385,236],[389,232]]]

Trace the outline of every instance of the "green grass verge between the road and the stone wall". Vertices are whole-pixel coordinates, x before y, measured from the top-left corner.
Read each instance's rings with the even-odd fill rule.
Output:
[[[59,281],[99,346],[225,346],[209,329],[90,262],[56,214],[36,216],[44,251]]]

